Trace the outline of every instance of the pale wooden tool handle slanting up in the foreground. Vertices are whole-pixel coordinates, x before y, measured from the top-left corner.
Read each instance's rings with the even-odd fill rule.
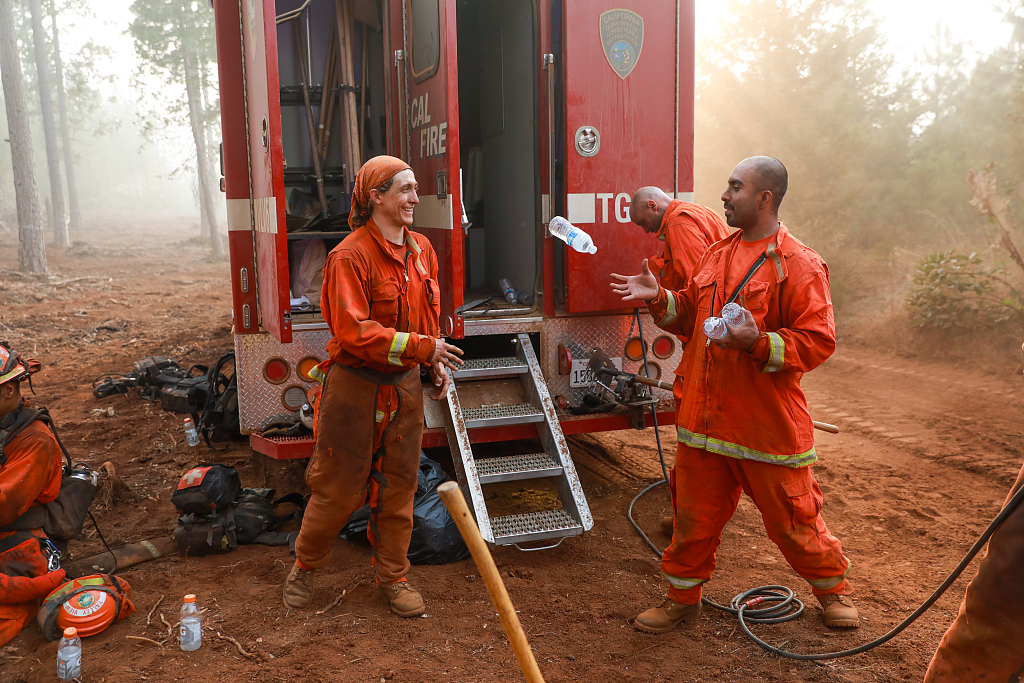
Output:
[[[534,651],[529,649],[526,634],[522,632],[522,625],[519,624],[515,607],[512,605],[512,600],[509,599],[508,591],[505,590],[505,583],[502,582],[498,567],[495,566],[495,558],[490,556],[490,551],[487,549],[487,544],[483,542],[483,537],[480,536],[480,529],[477,528],[476,522],[469,516],[469,507],[466,506],[466,499],[463,497],[462,490],[455,481],[445,481],[437,487],[437,494],[444,501],[444,506],[452,514],[455,523],[458,524],[459,531],[462,532],[462,538],[466,542],[469,552],[473,555],[473,561],[476,562],[476,568],[483,577],[483,583],[486,584],[487,592],[490,593],[490,600],[498,609],[502,626],[505,627],[505,635],[509,637],[512,651],[515,652],[515,657],[519,660],[522,675],[526,678],[527,683],[544,683],[544,676],[541,675],[537,659],[534,658]]]

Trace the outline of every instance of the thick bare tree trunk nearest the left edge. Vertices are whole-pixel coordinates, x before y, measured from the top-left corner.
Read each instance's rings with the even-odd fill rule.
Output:
[[[43,210],[39,205],[36,161],[32,152],[29,108],[22,83],[22,60],[11,3],[0,1],[0,80],[7,110],[10,160],[17,205],[17,258],[23,272],[46,272],[46,245],[43,242]]]

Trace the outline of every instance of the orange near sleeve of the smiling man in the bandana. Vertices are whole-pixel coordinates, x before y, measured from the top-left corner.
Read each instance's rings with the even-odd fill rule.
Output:
[[[434,271],[437,265],[434,263]],[[434,350],[434,340],[415,332],[398,332],[370,319],[369,282],[355,259],[329,258],[324,269],[324,291],[328,294],[328,327],[342,348],[364,360],[409,367],[426,362]]]

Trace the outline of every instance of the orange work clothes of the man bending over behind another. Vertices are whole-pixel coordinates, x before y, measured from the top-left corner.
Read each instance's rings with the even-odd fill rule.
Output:
[[[649,267],[652,272],[658,273],[662,287],[673,292],[682,291],[708,248],[729,237],[730,232],[725,221],[708,207],[673,200],[665,210],[662,227],[657,230],[657,239],[665,243],[665,251],[650,259]],[[689,334],[678,337],[684,345],[689,341]],[[676,382],[672,387],[677,408],[683,396],[682,376],[683,360],[680,358]]]

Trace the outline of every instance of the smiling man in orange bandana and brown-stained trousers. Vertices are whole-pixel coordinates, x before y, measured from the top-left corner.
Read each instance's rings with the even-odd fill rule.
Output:
[[[321,305],[333,338],[319,397],[316,447],[306,470],[312,495],[285,581],[285,605],[307,607],[313,570],[349,516],[370,504],[367,536],[381,594],[399,616],[424,611],[406,580],[420,469],[428,366],[440,399],[462,351],[440,339],[437,256],[410,231],[416,176],[400,159],[375,157],[352,190],[349,234],[324,265]]]

